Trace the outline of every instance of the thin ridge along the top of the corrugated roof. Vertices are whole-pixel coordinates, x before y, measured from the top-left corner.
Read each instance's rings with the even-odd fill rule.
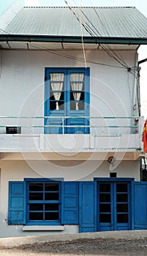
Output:
[[[63,9],[69,9],[69,7],[48,7],[48,6],[41,6],[41,7],[23,7],[23,8],[26,8],[26,9],[44,9],[44,8],[47,8],[47,9],[58,9],[58,8],[63,8]],[[81,7],[71,7],[71,8],[81,8]],[[121,7],[117,7],[117,6],[112,6],[112,7],[82,7],[82,8],[97,8],[97,9],[113,9],[113,8],[135,8],[135,6],[130,6],[130,7],[124,7],[124,6],[121,6]]]

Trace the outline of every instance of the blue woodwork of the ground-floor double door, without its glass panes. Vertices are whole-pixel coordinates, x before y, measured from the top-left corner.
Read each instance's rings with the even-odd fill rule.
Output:
[[[99,186],[110,186],[109,191],[102,190],[100,192]],[[116,190],[116,186],[121,184],[127,185],[127,191],[119,192]],[[122,181],[117,182],[113,180],[111,182],[108,182],[108,180],[105,182],[105,180],[102,180],[102,182],[97,183],[97,230],[98,231],[112,231],[112,230],[130,230],[131,229],[131,182],[125,181],[125,179]],[[109,198],[107,201],[100,201],[99,195],[102,195],[102,197],[106,196]],[[123,201],[121,199],[118,199],[120,195],[127,195],[126,201]],[[118,196],[118,197],[117,197]],[[100,211],[100,206],[106,206],[107,204],[110,205],[110,211]],[[126,211],[126,208],[122,208],[122,212],[117,210],[118,206],[121,206],[125,204],[128,207],[128,210]],[[122,214],[122,215],[121,215]],[[124,219],[120,219],[122,216],[124,218],[124,215],[127,214],[127,221]],[[99,216],[101,216],[102,221],[100,221]],[[118,220],[119,217],[119,220]],[[122,218],[121,217],[121,218]]]

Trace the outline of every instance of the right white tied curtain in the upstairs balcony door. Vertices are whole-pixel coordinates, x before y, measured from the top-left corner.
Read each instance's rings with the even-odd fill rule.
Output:
[[[78,101],[80,100],[80,95],[82,89],[83,89],[83,83],[81,83],[82,81],[84,81],[84,73],[72,73],[70,75],[70,80],[71,80],[71,87],[72,87],[72,91],[73,91],[73,97],[76,100],[75,102],[75,110],[78,110]],[[76,81],[76,83],[74,83],[73,81]]]

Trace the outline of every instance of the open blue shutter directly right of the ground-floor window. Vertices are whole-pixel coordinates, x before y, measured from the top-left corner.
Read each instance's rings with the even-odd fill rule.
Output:
[[[63,182],[61,194],[61,224],[78,224],[78,182]]]

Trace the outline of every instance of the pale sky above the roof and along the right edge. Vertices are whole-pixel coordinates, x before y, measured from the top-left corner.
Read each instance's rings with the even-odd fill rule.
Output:
[[[64,0],[18,0],[26,6],[67,6]],[[67,0],[70,6],[134,6],[147,18],[147,0]],[[0,14],[15,0],[0,0]],[[141,45],[139,60],[147,58],[147,45]],[[147,62],[140,64],[141,114],[147,118]],[[146,102],[146,104],[145,104]]]

